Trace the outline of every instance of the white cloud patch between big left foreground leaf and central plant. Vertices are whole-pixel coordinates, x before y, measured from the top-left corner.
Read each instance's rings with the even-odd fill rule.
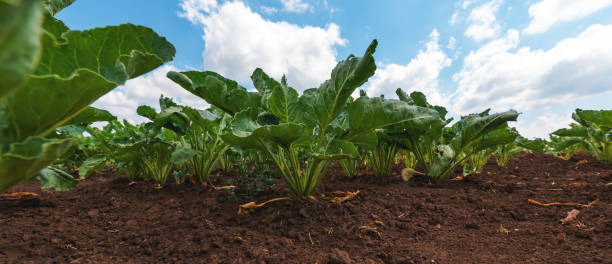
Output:
[[[201,99],[174,83],[166,77],[169,71],[178,71],[170,65],[164,65],[154,71],[129,80],[125,85],[115,88],[98,99],[93,106],[108,110],[119,119],[127,119],[129,122],[141,122],[141,118],[136,114],[139,105],[148,105],[159,109],[159,97],[164,95],[171,97],[181,105],[205,109],[208,104]]]

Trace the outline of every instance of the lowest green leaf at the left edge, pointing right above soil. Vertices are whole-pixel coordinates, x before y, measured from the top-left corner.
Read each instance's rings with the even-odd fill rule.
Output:
[[[41,137],[29,137],[21,143],[11,144],[10,150],[0,155],[0,193],[13,185],[32,179],[74,144],[73,139]]]

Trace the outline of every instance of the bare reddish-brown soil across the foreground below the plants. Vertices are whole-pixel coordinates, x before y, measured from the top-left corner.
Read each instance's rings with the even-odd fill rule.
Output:
[[[0,200],[0,263],[612,263],[612,165],[523,154],[463,181],[387,182],[332,169],[317,201],[247,216],[227,191],[91,177],[69,192]],[[578,165],[577,165],[578,164]],[[223,177],[223,176],[221,176]],[[233,176],[235,177],[235,175]],[[217,179],[221,183],[221,179]],[[357,191],[335,204],[322,194]],[[590,207],[528,203],[576,202]],[[572,209],[577,218],[560,222]]]

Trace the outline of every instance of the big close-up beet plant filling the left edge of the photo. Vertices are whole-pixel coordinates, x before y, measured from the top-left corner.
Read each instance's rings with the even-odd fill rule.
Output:
[[[0,192],[37,174],[58,188],[73,185],[43,170],[75,144],[56,138],[56,128],[174,56],[146,27],[70,30],[53,15],[72,2],[0,0]]]

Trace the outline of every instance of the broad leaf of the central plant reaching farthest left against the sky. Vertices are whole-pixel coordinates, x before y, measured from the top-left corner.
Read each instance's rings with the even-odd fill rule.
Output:
[[[206,100],[230,115],[261,104],[261,95],[247,92],[246,88],[237,82],[226,79],[215,72],[174,72],[167,74],[168,78],[179,84],[190,93]]]

